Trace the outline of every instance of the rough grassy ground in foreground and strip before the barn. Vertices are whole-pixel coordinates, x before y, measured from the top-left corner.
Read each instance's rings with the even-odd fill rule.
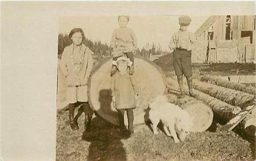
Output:
[[[166,60],[166,59],[165,59]],[[168,77],[174,76],[169,62],[156,62]],[[193,66],[193,77],[204,74],[230,75],[239,68],[243,74],[255,74],[255,65]],[[79,130],[72,131],[68,111],[57,114],[56,160],[253,160],[255,138],[241,132],[220,130],[214,121],[206,132],[191,133],[184,142],[176,144],[172,137],[160,132],[153,135],[146,124],[136,125],[133,135],[121,135],[115,127],[99,116],[92,119],[92,128],[84,132],[82,115]],[[254,157],[253,157],[254,156]]]

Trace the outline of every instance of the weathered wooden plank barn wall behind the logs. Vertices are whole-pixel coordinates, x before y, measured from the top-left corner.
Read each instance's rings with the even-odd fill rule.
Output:
[[[207,53],[207,35],[208,31],[214,31],[214,40],[216,49],[209,50],[208,62],[212,63],[252,63],[255,62],[255,46],[256,33],[253,29],[253,16],[231,16],[230,31],[232,32],[232,40],[225,40],[226,33],[226,16],[221,16],[219,19],[205,29],[203,34],[196,40],[193,51],[193,63],[204,63]],[[246,38],[241,38],[241,31],[253,31],[252,43]]]

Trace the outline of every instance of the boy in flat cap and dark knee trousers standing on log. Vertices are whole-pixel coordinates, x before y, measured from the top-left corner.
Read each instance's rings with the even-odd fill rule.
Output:
[[[179,17],[180,29],[173,34],[169,44],[169,48],[173,50],[173,67],[180,87],[180,97],[185,96],[183,75],[185,75],[188,82],[189,95],[195,96],[192,89],[191,63],[191,46],[195,41],[195,36],[187,30],[190,22],[191,18],[189,16],[183,15]]]

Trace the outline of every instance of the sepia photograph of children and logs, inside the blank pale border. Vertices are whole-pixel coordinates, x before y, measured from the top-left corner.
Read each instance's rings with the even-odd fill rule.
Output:
[[[56,160],[255,159],[255,15],[59,25]]]

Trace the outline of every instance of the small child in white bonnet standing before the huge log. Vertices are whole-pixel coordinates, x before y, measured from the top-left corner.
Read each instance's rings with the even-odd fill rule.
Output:
[[[133,109],[136,108],[136,100],[138,97],[138,87],[133,75],[127,72],[130,59],[127,57],[118,57],[116,60],[118,72],[111,78],[111,94],[112,101],[118,111],[118,119],[120,128],[125,131],[124,112],[127,112],[128,130],[131,134],[133,130]]]

